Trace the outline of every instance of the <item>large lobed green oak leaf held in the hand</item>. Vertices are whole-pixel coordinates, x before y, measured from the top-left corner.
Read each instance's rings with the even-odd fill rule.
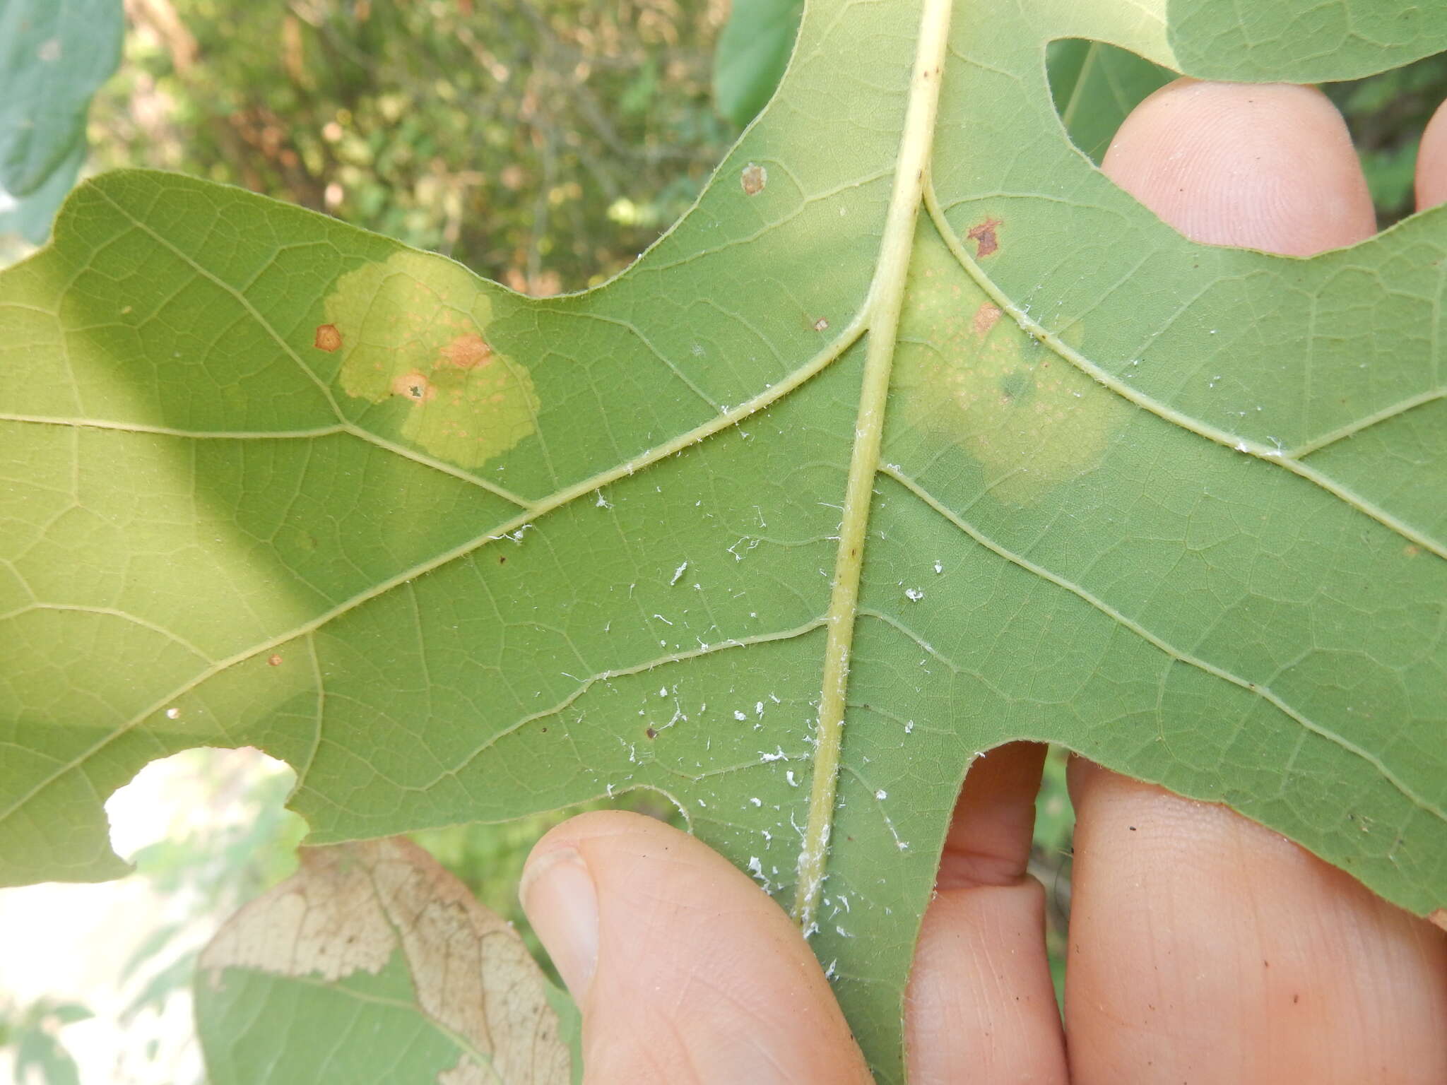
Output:
[[[0,875],[122,872],[101,801],[194,745],[294,765],[317,843],[651,788],[794,910],[881,1082],[1010,739],[1441,907],[1447,220],[1192,244],[1046,51],[1334,80],[1447,27],[1297,55],[1275,4],[1263,59],[1233,10],[820,0],[690,214],[560,298],[82,187],[0,275]]]

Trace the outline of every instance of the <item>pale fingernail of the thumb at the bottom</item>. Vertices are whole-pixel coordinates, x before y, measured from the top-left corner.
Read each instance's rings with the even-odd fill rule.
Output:
[[[518,898],[567,990],[582,1001],[598,968],[598,893],[583,856],[554,848],[530,859]]]

